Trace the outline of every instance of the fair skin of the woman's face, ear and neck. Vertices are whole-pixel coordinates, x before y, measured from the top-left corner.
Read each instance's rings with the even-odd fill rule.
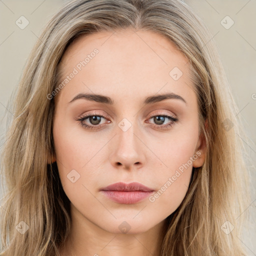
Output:
[[[83,35],[69,45],[60,65],[61,81],[94,48],[99,52],[55,96],[56,155],[52,160],[57,162],[63,189],[71,201],[72,221],[60,254],[160,255],[165,219],[183,200],[192,166],[201,166],[205,158],[190,66],[160,34],[132,29],[104,31]],[[177,80],[169,75],[173,67],[183,73]],[[145,97],[169,92],[186,103],[169,98],[143,105]],[[106,95],[114,103],[84,98],[68,103],[78,93]],[[81,126],[77,119],[85,113],[105,115],[99,124],[84,120],[87,125],[102,127]],[[157,124],[152,116],[163,114],[178,121],[160,129],[170,119]],[[123,118],[131,124],[126,131],[118,126]],[[196,152],[200,156],[153,202],[145,198],[121,204],[100,191],[118,181],[137,181],[158,191]],[[72,169],[80,175],[74,183],[67,178]],[[126,233],[119,229],[123,221],[130,226]]]

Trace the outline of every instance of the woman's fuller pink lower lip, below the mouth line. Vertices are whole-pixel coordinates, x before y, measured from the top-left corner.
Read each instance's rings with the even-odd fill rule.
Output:
[[[124,204],[132,204],[136,203],[146,197],[148,197],[154,191],[105,191],[101,190],[104,195],[106,195],[111,200],[124,203]]]

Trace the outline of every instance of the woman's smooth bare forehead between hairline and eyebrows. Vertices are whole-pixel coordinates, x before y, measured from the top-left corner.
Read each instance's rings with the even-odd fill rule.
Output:
[[[144,96],[159,90],[187,94],[192,87],[188,59],[154,31],[125,29],[82,35],[67,47],[59,67],[59,83],[76,70],[59,93],[64,94],[65,102],[81,91]],[[180,78],[175,80],[173,73]]]

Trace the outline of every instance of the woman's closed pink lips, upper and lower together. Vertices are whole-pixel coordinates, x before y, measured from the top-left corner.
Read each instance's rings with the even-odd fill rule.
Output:
[[[109,199],[124,204],[136,203],[148,197],[154,189],[138,182],[118,182],[100,189]]]

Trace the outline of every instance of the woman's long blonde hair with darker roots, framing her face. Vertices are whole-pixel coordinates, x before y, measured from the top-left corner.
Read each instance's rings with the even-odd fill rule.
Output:
[[[47,164],[55,153],[54,98],[47,95],[58,85],[58,64],[71,41],[126,28],[164,35],[187,57],[206,143],[204,164],[193,168],[184,199],[167,217],[161,256],[245,255],[237,238],[250,198],[245,138],[207,28],[181,0],[73,0],[41,32],[16,92],[1,156],[1,256],[59,255],[70,230],[70,201],[56,162]]]

